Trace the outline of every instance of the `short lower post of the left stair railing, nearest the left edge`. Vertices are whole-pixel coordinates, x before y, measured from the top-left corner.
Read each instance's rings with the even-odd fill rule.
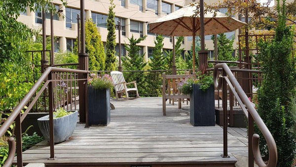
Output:
[[[15,119],[17,166],[23,167],[21,113]]]

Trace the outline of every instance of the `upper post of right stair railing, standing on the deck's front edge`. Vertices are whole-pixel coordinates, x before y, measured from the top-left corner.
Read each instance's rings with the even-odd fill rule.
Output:
[[[222,70],[222,76],[226,77],[226,72]],[[222,78],[222,107],[223,107],[223,158],[228,157],[227,153],[227,83],[224,78]]]

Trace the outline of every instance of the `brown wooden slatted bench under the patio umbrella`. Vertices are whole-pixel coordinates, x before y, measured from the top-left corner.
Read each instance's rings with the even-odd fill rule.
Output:
[[[189,94],[181,94],[178,89],[178,84],[192,75],[165,75],[162,74],[162,112],[166,115],[166,101],[167,99],[178,99],[178,107],[181,109],[181,99],[189,99]]]

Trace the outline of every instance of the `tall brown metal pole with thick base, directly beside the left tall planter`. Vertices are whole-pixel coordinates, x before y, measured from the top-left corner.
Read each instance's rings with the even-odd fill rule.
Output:
[[[88,54],[85,53],[85,22],[84,22],[84,0],[80,0],[81,21],[81,52],[78,54],[79,70],[88,70]],[[87,75],[78,74],[78,79],[87,79]],[[86,123],[87,112],[87,80],[79,81],[79,122]],[[88,125],[85,125],[86,127]]]

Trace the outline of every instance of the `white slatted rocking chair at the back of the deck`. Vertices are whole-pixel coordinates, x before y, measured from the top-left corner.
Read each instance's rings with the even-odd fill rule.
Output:
[[[114,84],[114,88],[115,88],[115,96],[116,99],[118,99],[118,94],[119,93],[125,93],[126,98],[125,99],[135,99],[135,98],[139,98],[139,93],[138,93],[138,88],[137,88],[137,84],[136,81],[130,82],[130,83],[126,83],[123,77],[123,74],[119,71],[112,71],[111,72],[111,77],[113,80],[113,84]],[[134,87],[132,88],[128,88],[127,85],[128,84],[134,84]],[[136,91],[136,97],[134,98],[129,98],[128,97],[128,93],[130,91]]]

